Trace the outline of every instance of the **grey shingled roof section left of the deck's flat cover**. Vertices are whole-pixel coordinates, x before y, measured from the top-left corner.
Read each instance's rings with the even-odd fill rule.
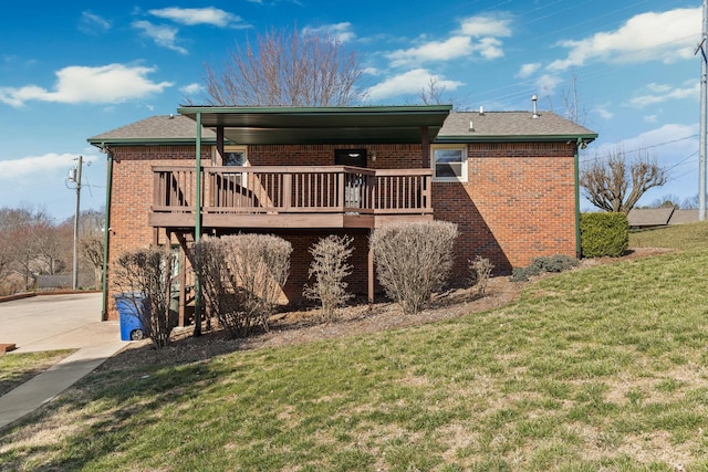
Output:
[[[159,115],[102,133],[88,138],[93,145],[135,145],[135,144],[194,144],[197,128],[194,119],[181,115]],[[201,139],[216,143],[216,133],[202,128]]]

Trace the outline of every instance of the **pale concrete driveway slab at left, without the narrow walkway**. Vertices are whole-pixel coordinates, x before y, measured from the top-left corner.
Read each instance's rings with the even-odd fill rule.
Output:
[[[18,353],[83,348],[121,340],[118,322],[101,321],[101,293],[40,295],[0,303],[0,343]]]

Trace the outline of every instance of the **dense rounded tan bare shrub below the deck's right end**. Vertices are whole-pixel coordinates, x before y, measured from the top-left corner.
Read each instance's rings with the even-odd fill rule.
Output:
[[[371,244],[378,281],[404,314],[416,314],[442,287],[452,269],[457,224],[397,223],[374,231]]]

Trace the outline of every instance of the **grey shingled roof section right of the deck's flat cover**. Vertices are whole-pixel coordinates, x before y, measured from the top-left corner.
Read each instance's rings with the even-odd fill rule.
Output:
[[[473,140],[566,140],[589,143],[596,133],[552,112],[457,112],[451,113],[437,141]]]

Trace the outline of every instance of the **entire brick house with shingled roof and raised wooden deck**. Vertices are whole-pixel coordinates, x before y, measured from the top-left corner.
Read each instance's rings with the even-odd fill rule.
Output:
[[[458,276],[488,258],[499,273],[539,255],[576,255],[577,149],[596,134],[553,113],[450,106],[183,107],[94,136],[107,155],[107,276],[123,251],[184,250],[199,234],[268,232],[293,245],[284,287],[298,300],[308,249],[354,238],[354,292],[374,291],[369,232],[394,221],[458,224]],[[199,150],[197,150],[199,149]],[[198,197],[197,197],[198,196]],[[189,271],[180,273],[180,323]]]

